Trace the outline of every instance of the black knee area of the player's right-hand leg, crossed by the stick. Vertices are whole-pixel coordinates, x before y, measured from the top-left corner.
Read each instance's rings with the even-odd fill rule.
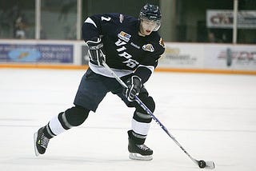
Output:
[[[144,96],[141,97],[141,100],[143,101],[144,105],[146,105],[146,107],[153,113],[155,109],[154,99],[150,96]],[[133,118],[136,121],[144,123],[150,123],[152,121],[150,114],[146,113],[146,111],[142,109],[141,106],[136,107]]]

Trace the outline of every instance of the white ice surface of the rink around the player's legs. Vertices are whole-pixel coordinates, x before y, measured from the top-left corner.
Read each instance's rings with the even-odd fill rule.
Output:
[[[200,170],[152,121],[146,145],[153,161],[131,161],[127,133],[133,109],[109,93],[79,127],[34,156],[33,133],[72,107],[83,70],[0,69],[0,170]],[[155,72],[146,88],[155,116],[198,160],[219,171],[256,166],[256,77]]]

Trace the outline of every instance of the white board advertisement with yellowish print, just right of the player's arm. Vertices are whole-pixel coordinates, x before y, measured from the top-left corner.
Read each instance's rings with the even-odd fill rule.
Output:
[[[166,51],[158,66],[170,68],[202,68],[203,46],[193,44],[166,43]]]

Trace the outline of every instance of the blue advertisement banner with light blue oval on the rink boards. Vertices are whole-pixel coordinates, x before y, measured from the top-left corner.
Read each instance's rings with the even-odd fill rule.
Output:
[[[0,44],[0,62],[73,63],[73,45]]]

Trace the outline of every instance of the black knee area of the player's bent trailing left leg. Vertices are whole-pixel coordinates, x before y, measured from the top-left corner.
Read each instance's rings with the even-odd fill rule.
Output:
[[[78,126],[86,121],[89,112],[89,109],[76,105],[70,109],[66,109],[63,114],[65,114],[67,123],[69,123],[71,126]]]

